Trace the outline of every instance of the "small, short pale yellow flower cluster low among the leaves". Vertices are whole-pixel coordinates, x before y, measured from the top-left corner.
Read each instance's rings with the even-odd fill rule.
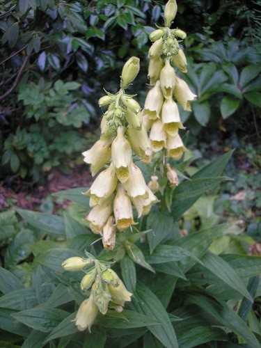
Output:
[[[108,262],[98,261],[90,253],[86,255],[86,259],[68,258],[62,264],[66,271],[82,270],[86,273],[81,280],[81,290],[88,294],[88,299],[81,303],[74,319],[79,331],[87,328],[90,331],[99,312],[105,315],[108,308],[121,312],[132,296]]]

